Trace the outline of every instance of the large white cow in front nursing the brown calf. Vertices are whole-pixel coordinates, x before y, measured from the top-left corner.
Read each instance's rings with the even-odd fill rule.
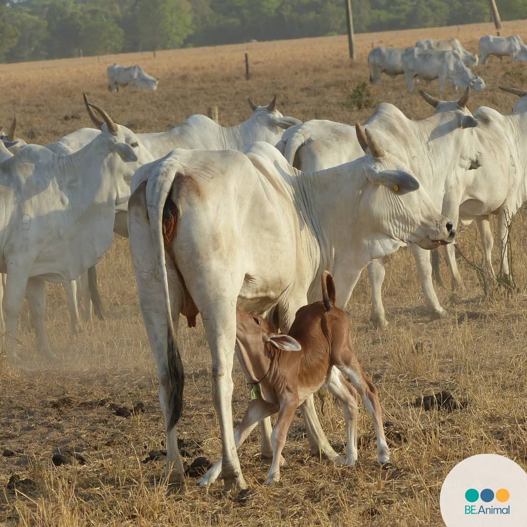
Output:
[[[365,135],[357,125],[357,132],[368,153],[321,172],[299,172],[277,149],[258,142],[246,154],[174,150],[135,173],[130,252],[158,364],[167,476],[174,490],[184,487],[175,426],[183,391],[179,313],[190,325],[201,313],[212,355],[222,476],[227,489],[244,488],[231,411],[236,306],[287,331],[297,309],[320,298],[324,269],[333,275],[344,307],[370,260],[407,242],[432,249],[453,240],[450,222],[405,161],[385,152],[369,130]],[[312,451],[336,460],[313,397],[301,407]]]

